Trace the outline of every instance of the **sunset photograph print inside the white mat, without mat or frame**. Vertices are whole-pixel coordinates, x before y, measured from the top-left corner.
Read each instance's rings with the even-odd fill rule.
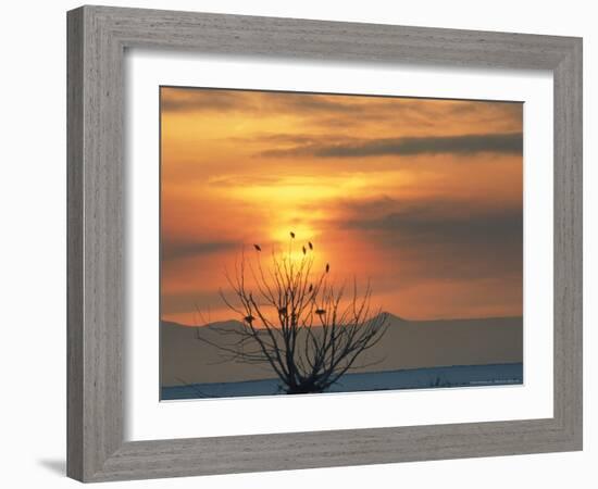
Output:
[[[523,384],[521,102],[162,86],[160,118],[162,400]]]

